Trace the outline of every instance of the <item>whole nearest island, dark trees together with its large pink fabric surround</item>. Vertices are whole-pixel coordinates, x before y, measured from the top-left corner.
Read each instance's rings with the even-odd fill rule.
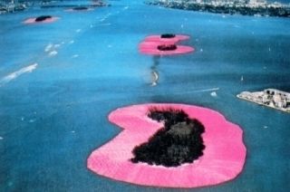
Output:
[[[234,179],[243,169],[243,130],[218,111],[147,103],[113,110],[109,120],[121,132],[89,156],[87,167],[98,175],[143,186],[205,187]],[[138,146],[150,150],[139,151],[137,161]]]

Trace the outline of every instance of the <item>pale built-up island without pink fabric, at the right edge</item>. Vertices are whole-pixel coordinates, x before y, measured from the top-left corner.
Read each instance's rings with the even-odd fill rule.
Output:
[[[266,89],[264,91],[243,91],[237,94],[237,98],[252,101],[266,107],[290,112],[290,93],[275,89]]]

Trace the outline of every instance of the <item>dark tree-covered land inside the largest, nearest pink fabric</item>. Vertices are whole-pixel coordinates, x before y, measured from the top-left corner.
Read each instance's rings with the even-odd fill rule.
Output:
[[[196,119],[189,119],[183,110],[151,109],[148,117],[164,122],[146,143],[133,149],[133,163],[145,162],[150,165],[178,167],[184,163],[192,163],[203,155],[204,126]]]

